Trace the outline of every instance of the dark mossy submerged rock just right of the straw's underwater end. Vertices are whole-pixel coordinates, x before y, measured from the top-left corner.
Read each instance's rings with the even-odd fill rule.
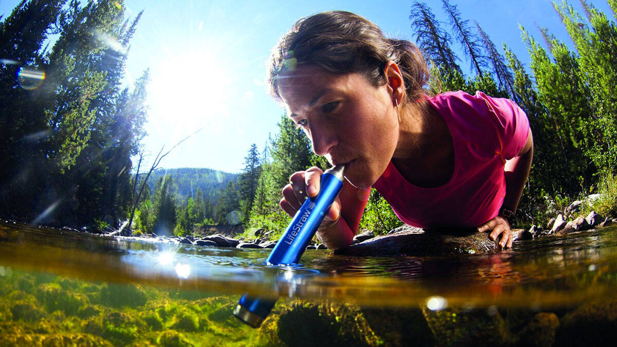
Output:
[[[360,309],[351,304],[297,300],[283,309],[276,329],[288,346],[376,346],[379,341]]]

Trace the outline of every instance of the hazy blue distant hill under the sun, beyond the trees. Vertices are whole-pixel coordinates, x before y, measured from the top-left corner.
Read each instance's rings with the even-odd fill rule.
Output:
[[[230,181],[235,182],[238,174],[228,174],[227,172],[205,169],[182,167],[180,169],[159,169],[152,172],[148,180],[148,185],[154,191],[156,184],[164,175],[172,175],[173,183],[178,188],[178,201],[186,201],[201,188],[204,196],[208,196],[210,201],[216,201],[220,193],[225,189]]]

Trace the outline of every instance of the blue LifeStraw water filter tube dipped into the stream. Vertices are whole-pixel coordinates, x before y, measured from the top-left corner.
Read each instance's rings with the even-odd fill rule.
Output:
[[[296,264],[312,240],[317,228],[323,222],[328,209],[343,186],[344,165],[335,165],[321,175],[320,191],[317,196],[307,198],[296,212],[283,236],[278,240],[270,256],[268,265]],[[234,316],[254,328],[259,327],[268,316],[276,300],[242,295]]]

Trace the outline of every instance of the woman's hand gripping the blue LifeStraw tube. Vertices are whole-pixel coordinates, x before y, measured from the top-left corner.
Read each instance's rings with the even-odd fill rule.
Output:
[[[283,199],[279,205],[290,217],[294,217],[307,197],[316,196],[320,190],[321,174],[318,167],[311,167],[306,171],[294,172],[289,177],[289,184],[283,187]],[[328,213],[321,222],[321,226],[330,224],[341,215],[341,200],[337,197],[330,206]]]

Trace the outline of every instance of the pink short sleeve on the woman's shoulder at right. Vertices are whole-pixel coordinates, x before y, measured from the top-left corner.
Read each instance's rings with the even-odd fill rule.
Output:
[[[523,109],[510,99],[491,98],[481,91],[476,91],[476,98],[484,99],[494,115],[502,159],[506,161],[518,156],[527,143],[530,131],[529,119]]]

